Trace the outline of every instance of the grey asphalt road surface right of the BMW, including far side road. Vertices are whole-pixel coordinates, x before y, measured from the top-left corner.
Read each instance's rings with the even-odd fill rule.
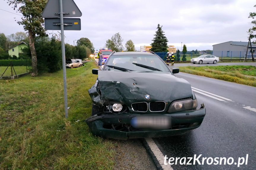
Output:
[[[223,63],[212,65],[220,64]],[[225,64],[227,65],[227,63]],[[203,66],[204,64],[191,65]],[[198,104],[204,103],[206,106],[206,116],[199,128],[187,134],[153,139],[168,159],[179,158],[177,165],[175,165],[175,161],[171,162],[174,165],[168,169],[255,170],[256,88],[186,73],[178,73],[176,76],[190,82]],[[198,158],[198,156],[200,157]],[[185,157],[186,161],[183,158],[180,162],[182,157]],[[193,157],[190,162],[192,165],[182,165],[184,162],[187,163],[189,157]],[[206,158],[204,161],[203,157]],[[220,157],[223,159],[221,165]],[[195,158],[198,158],[199,162]],[[217,158],[218,163],[214,161],[214,158]],[[225,158],[226,165],[223,165]],[[168,163],[168,159],[166,163]],[[238,167],[243,160],[244,163]],[[211,161],[213,162],[211,163]],[[204,162],[203,165],[202,162]]]

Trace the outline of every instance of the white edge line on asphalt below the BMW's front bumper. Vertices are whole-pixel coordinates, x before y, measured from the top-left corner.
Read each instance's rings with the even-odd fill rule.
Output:
[[[155,142],[152,140],[152,138],[145,138],[148,146],[150,147],[151,151],[154,153],[155,157],[157,158],[157,161],[161,165],[163,170],[173,170],[171,165],[168,163],[167,165],[164,164],[164,156],[163,153],[159,150]]]

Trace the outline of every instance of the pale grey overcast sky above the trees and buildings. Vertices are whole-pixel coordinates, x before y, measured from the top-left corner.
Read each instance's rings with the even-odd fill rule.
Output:
[[[63,3],[65,0],[63,0]],[[89,38],[96,49],[120,33],[123,46],[132,40],[136,50],[150,45],[160,24],[168,45],[181,50],[212,50],[212,45],[227,41],[247,41],[251,28],[249,12],[256,12],[255,0],[74,0],[82,12],[81,30],[65,30],[65,43]],[[7,12],[8,11],[8,12]],[[12,12],[12,13],[11,13]],[[65,12],[65,11],[63,11]],[[7,1],[0,0],[0,33],[6,36],[23,31],[18,25],[22,15]],[[49,30],[57,33],[57,30]],[[60,31],[59,31],[60,32]]]

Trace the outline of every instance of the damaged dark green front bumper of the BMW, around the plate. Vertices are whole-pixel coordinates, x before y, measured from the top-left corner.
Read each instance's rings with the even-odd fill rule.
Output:
[[[180,111],[168,114],[144,114],[144,116],[167,116],[171,121],[168,129],[135,128],[131,120],[142,114],[125,113],[109,114],[100,113],[86,119],[93,135],[105,138],[126,140],[131,138],[166,137],[180,135],[198,128],[203,122],[206,108],[202,106],[198,110]]]

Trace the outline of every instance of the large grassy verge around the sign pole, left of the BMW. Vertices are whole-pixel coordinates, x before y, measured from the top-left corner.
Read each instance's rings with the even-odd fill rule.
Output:
[[[0,80],[0,169],[113,169],[115,144],[93,136],[84,121],[92,68],[95,62],[66,69],[68,119],[62,71]]]

